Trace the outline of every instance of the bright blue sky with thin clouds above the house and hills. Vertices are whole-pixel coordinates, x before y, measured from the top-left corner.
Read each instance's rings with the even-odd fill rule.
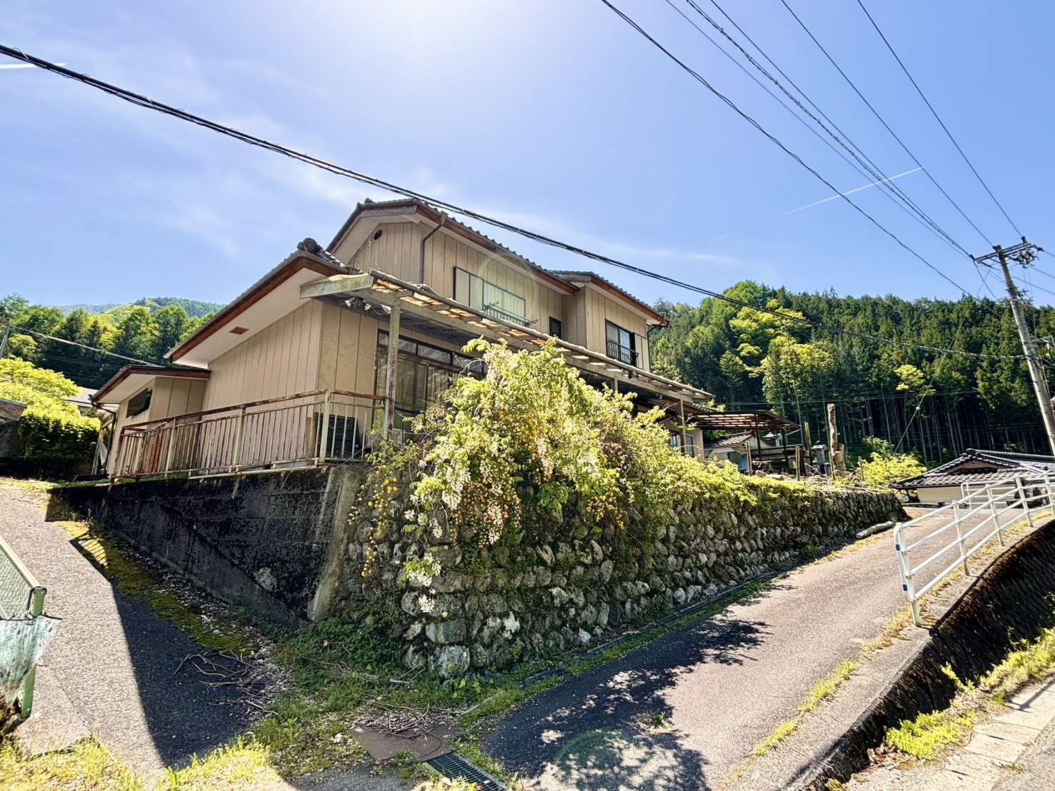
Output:
[[[868,182],[664,0],[616,4],[840,190]],[[722,4],[887,175],[916,167],[780,0]],[[789,4],[979,228],[1017,242],[857,3]],[[1044,98],[1055,6],[865,4],[1011,217],[1055,250]],[[0,42],[706,288],[754,278],[959,293],[841,199],[792,211],[831,192],[599,0],[7,0]],[[0,69],[0,294],[226,302],[305,236],[328,243],[357,200],[390,197],[39,70]],[[924,173],[897,184],[959,244],[989,251]],[[852,197],[979,290],[971,262],[879,189]],[[698,301],[482,230],[650,302]],[[1055,273],[1055,258],[1040,264]],[[1033,279],[1055,291],[1055,279]]]

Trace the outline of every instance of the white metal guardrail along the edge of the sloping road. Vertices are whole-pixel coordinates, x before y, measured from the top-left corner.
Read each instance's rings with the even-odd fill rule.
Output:
[[[991,541],[1003,545],[1004,533],[1052,509],[1055,474],[1019,475],[984,486],[962,487],[962,497],[924,517],[894,526],[901,587],[922,626],[920,600]],[[922,535],[917,535],[922,534]],[[950,562],[952,561],[952,562]]]

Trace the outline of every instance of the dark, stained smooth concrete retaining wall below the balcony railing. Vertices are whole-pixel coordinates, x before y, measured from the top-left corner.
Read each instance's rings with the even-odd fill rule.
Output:
[[[227,601],[329,614],[363,465],[64,489],[76,510]]]

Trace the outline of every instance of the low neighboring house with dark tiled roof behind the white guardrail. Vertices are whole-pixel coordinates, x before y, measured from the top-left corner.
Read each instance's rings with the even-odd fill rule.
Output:
[[[945,505],[963,496],[963,486],[985,486],[1016,475],[1055,471],[1055,457],[968,448],[951,462],[893,484],[903,491],[918,491],[925,505]]]

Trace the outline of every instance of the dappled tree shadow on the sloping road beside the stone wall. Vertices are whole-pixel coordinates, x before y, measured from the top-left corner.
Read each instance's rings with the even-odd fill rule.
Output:
[[[708,789],[707,757],[669,725],[666,693],[695,665],[751,661],[764,628],[725,613],[684,626],[536,695],[505,716],[485,749],[539,788]]]

